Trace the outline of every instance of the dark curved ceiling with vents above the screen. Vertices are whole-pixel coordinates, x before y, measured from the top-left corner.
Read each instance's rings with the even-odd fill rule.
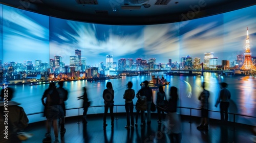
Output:
[[[53,17],[107,25],[152,25],[190,20],[256,4],[256,0],[0,0]]]

